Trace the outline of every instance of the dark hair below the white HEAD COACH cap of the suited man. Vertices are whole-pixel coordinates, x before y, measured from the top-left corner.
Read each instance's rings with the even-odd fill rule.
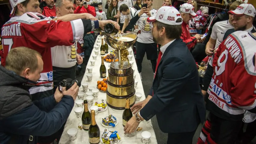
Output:
[[[158,21],[155,21],[155,22],[156,22],[157,30],[162,29],[162,27],[165,28],[165,35],[167,38],[169,39],[180,38],[182,34],[181,25],[171,26],[171,25],[164,24],[162,22],[158,22]],[[182,18],[178,18],[176,22],[182,22]]]

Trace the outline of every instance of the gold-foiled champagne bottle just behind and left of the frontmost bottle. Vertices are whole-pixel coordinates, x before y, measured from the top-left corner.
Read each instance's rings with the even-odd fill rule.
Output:
[[[84,100],[83,103],[84,103],[84,111],[82,115],[83,130],[88,131],[91,125],[91,114],[88,110],[87,100]]]

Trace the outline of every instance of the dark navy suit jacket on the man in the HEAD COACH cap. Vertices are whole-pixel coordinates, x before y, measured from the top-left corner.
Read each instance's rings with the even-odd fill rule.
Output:
[[[146,121],[156,115],[164,133],[191,132],[204,122],[197,66],[182,39],[173,41],[162,55],[149,95],[153,93],[140,115]]]

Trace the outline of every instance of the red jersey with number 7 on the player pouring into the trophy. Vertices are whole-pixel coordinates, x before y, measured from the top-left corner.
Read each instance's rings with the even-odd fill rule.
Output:
[[[97,28],[96,25],[95,28]],[[5,66],[5,58],[12,48],[26,46],[42,55],[44,68],[40,80],[52,81],[51,47],[71,46],[83,36],[84,32],[92,30],[92,21],[89,19],[77,19],[71,22],[53,21],[50,17],[32,12],[14,16],[2,27],[4,52],[1,58],[2,65]],[[39,82],[38,85],[40,84],[51,85],[52,82]],[[46,97],[53,94],[52,89],[53,87],[40,86],[32,87],[29,91],[30,94],[37,93],[37,96]]]

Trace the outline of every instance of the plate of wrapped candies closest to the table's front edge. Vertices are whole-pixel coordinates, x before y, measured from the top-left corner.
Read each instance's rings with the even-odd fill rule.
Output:
[[[107,129],[105,129],[103,134],[101,135],[101,143],[104,143],[104,144],[119,143],[120,140],[121,138],[117,134],[117,131],[107,132]]]

